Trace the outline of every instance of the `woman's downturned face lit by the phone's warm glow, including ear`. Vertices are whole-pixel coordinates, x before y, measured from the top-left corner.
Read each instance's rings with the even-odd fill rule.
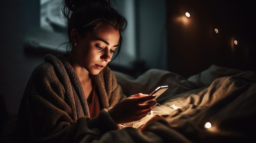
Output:
[[[120,33],[111,26],[99,26],[96,30],[79,37],[74,48],[77,66],[97,75],[110,62],[118,46]]]

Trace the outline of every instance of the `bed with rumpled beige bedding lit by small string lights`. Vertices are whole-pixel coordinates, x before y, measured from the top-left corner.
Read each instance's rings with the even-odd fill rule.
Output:
[[[139,121],[104,134],[106,143],[253,142],[256,123],[256,72],[211,65],[184,78],[150,69],[137,78],[115,71],[126,95],[169,88]]]

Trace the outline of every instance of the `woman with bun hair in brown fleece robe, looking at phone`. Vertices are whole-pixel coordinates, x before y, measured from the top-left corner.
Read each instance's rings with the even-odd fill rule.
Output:
[[[31,74],[18,113],[20,141],[90,142],[156,104],[153,95],[126,98],[107,66],[127,24],[108,0],[65,0],[63,13],[72,50],[46,55]]]

